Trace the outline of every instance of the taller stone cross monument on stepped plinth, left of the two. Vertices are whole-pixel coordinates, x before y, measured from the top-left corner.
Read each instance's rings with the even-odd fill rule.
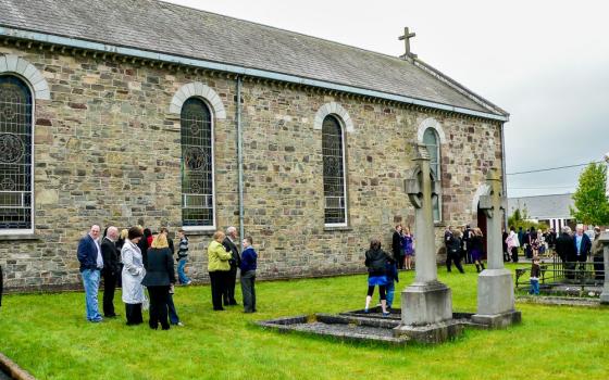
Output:
[[[452,319],[450,288],[437,280],[433,198],[439,186],[430,168],[425,145],[417,145],[414,168],[406,180],[406,191],[414,206],[417,233],[417,276],[401,293],[401,325],[425,326]]]

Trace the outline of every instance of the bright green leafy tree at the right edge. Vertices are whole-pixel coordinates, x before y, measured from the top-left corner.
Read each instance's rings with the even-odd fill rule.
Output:
[[[573,194],[575,207],[571,215],[585,225],[609,224],[609,201],[606,194],[607,166],[589,164],[580,175],[580,185]]]

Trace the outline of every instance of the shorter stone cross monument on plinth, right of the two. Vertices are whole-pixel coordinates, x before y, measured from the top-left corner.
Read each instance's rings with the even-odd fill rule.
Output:
[[[512,274],[504,267],[501,221],[502,211],[507,207],[496,168],[488,170],[486,183],[488,193],[480,198],[480,208],[487,220],[488,268],[478,276],[477,313],[472,316],[472,320],[500,328],[520,321],[521,315],[514,309]]]

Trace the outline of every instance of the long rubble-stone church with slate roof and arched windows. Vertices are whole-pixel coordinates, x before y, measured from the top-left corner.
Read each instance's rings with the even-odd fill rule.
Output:
[[[371,237],[413,224],[415,143],[442,182],[442,258],[502,173],[508,117],[410,53],[157,0],[0,0],[5,286],[77,287],[92,224],[184,228],[198,281],[227,226],[261,278],[363,271]]]

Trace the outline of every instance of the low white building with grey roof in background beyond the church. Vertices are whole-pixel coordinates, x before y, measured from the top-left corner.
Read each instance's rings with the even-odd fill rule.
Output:
[[[535,195],[508,199],[508,215],[517,208],[526,208],[527,219],[545,223],[555,231],[563,226],[575,227],[575,219],[571,216],[570,207],[574,207],[573,194]]]

